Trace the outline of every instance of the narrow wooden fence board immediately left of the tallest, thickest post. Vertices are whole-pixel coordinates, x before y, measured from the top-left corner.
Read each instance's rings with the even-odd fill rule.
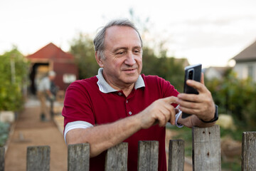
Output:
[[[170,140],[169,141],[169,160],[168,170],[179,171],[184,170],[184,140]]]

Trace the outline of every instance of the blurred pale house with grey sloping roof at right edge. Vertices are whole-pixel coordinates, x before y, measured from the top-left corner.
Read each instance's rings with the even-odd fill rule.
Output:
[[[234,71],[238,73],[238,78],[250,77],[256,82],[256,41],[232,59],[235,60]]]

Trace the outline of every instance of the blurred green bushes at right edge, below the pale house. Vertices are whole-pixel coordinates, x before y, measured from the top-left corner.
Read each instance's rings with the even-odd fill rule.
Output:
[[[206,86],[219,106],[219,113],[233,115],[238,125],[256,128],[256,83],[250,78],[240,80],[229,71],[223,80],[206,81]]]

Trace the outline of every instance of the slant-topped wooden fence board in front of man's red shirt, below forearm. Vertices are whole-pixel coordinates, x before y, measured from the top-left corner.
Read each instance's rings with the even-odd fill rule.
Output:
[[[128,160],[128,142],[122,142],[119,145],[107,150],[105,160],[105,170],[127,171]]]

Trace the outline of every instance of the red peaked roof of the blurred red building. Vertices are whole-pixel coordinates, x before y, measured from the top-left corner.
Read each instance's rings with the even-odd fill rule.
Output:
[[[43,48],[39,49],[35,53],[28,55],[28,59],[33,58],[48,58],[48,59],[71,59],[73,60],[73,56],[70,53],[66,53],[58,46],[55,46],[53,43],[49,43]]]

